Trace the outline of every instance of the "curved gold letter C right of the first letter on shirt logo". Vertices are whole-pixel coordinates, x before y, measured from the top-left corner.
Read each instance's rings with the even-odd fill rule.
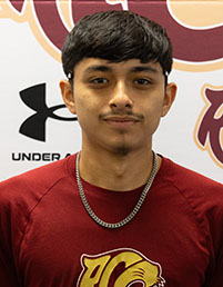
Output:
[[[116,255],[114,258],[111,259],[111,261],[108,264],[100,281],[100,287],[105,287],[109,284],[110,276],[114,268],[120,264],[124,263],[125,268],[128,268],[130,265],[138,263],[139,260],[142,260],[142,257],[135,253],[132,251],[124,251],[119,255]],[[125,285],[120,285],[125,286]]]

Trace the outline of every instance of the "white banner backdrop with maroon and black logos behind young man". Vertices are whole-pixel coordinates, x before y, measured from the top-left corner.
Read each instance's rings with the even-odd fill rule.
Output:
[[[223,1],[202,0],[1,0],[0,180],[80,150],[60,96],[60,50],[80,18],[111,9],[160,22],[173,42],[178,98],[154,150],[223,182]]]

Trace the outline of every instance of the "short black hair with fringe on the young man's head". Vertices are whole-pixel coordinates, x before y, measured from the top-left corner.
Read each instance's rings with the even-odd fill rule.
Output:
[[[91,57],[111,62],[155,60],[165,78],[172,69],[172,44],[165,29],[130,11],[97,12],[75,24],[62,48],[62,65],[68,78],[72,78],[78,62]]]

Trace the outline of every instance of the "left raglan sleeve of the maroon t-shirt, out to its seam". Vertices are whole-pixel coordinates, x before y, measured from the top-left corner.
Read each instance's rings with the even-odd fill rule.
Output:
[[[20,246],[30,214],[51,186],[67,175],[67,161],[49,164],[0,182],[0,286],[23,286]],[[50,172],[51,165],[54,172]]]

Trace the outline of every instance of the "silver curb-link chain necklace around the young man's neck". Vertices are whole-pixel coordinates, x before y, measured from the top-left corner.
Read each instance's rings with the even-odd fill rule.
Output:
[[[75,175],[77,175],[77,182],[78,182],[78,187],[79,187],[79,191],[80,191],[80,196],[81,196],[81,200],[83,202],[83,206],[87,210],[87,212],[90,215],[90,217],[100,226],[105,227],[105,228],[120,228],[124,225],[126,225],[130,220],[132,220],[132,218],[138,214],[138,211],[140,210],[148,191],[150,190],[150,187],[152,186],[153,179],[155,178],[155,174],[156,174],[156,169],[158,169],[158,156],[155,152],[153,152],[153,167],[152,167],[152,171],[150,175],[150,178],[144,187],[144,189],[142,190],[142,194],[136,202],[136,205],[134,206],[133,210],[121,221],[116,222],[116,224],[109,224],[105,222],[103,220],[101,220],[95,214],[94,211],[91,209],[87,198],[85,198],[85,194],[82,187],[82,182],[81,182],[81,178],[80,178],[80,172],[79,172],[79,158],[80,158],[80,152],[77,155],[77,159],[75,159]]]

